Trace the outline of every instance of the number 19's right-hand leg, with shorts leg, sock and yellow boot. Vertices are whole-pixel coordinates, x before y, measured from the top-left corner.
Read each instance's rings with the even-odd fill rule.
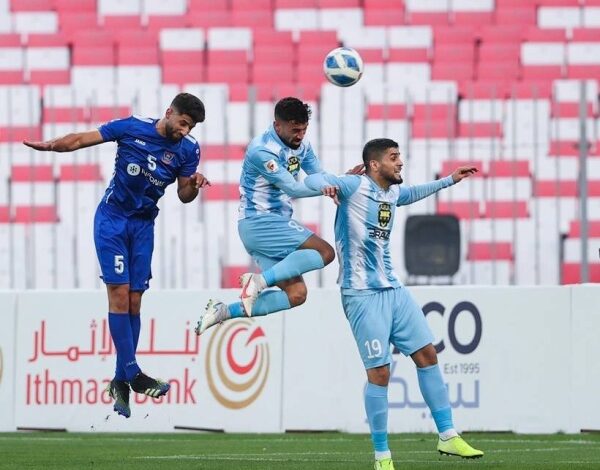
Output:
[[[395,309],[392,343],[417,366],[421,394],[439,433],[438,450],[461,457],[481,457],[454,429],[448,389],[438,366],[433,334],[425,315],[406,288],[394,289]]]

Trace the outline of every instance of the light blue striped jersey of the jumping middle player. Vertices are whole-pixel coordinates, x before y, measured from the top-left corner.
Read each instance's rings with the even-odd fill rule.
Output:
[[[310,190],[298,181],[300,169],[309,175],[321,171],[309,143],[292,149],[282,142],[272,125],[252,139],[240,176],[239,218],[266,213],[291,218],[291,198],[320,196],[320,191]]]

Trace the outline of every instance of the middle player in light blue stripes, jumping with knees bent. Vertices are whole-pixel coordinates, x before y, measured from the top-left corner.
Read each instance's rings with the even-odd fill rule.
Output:
[[[241,302],[225,305],[211,300],[197,334],[230,318],[301,305],[307,294],[302,274],[333,261],[331,245],[292,219],[292,198],[322,194],[298,181],[301,169],[309,175],[321,172],[310,143],[303,141],[310,114],[309,106],[299,99],[283,98],[275,105],[272,126],[248,145],[240,177],[238,230],[262,272],[241,276]],[[326,188],[325,193],[333,196],[335,188]],[[279,289],[265,290],[273,286]]]

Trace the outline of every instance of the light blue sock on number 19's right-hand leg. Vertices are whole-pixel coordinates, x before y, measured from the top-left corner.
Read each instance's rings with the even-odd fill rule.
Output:
[[[448,399],[448,390],[444,384],[439,366],[417,367],[419,388],[423,398],[431,411],[438,432],[442,433],[454,429],[452,422],[452,408]]]

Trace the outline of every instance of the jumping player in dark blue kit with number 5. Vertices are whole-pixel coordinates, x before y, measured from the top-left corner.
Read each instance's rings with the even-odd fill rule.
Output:
[[[108,292],[108,320],[117,350],[109,393],[115,399],[115,411],[127,418],[131,415],[130,387],[154,398],[169,390],[168,383],[144,374],[136,361],[141,301],[152,278],[156,204],[165,188],[177,180],[179,199],[188,203],[200,188],[210,185],[196,171],[200,147],[189,135],[204,117],[202,101],[180,93],[161,119],[131,116],[103,124],[97,130],[46,142],[23,142],[35,150],[54,152],[117,142],[114,173],[94,217],[94,242]]]

